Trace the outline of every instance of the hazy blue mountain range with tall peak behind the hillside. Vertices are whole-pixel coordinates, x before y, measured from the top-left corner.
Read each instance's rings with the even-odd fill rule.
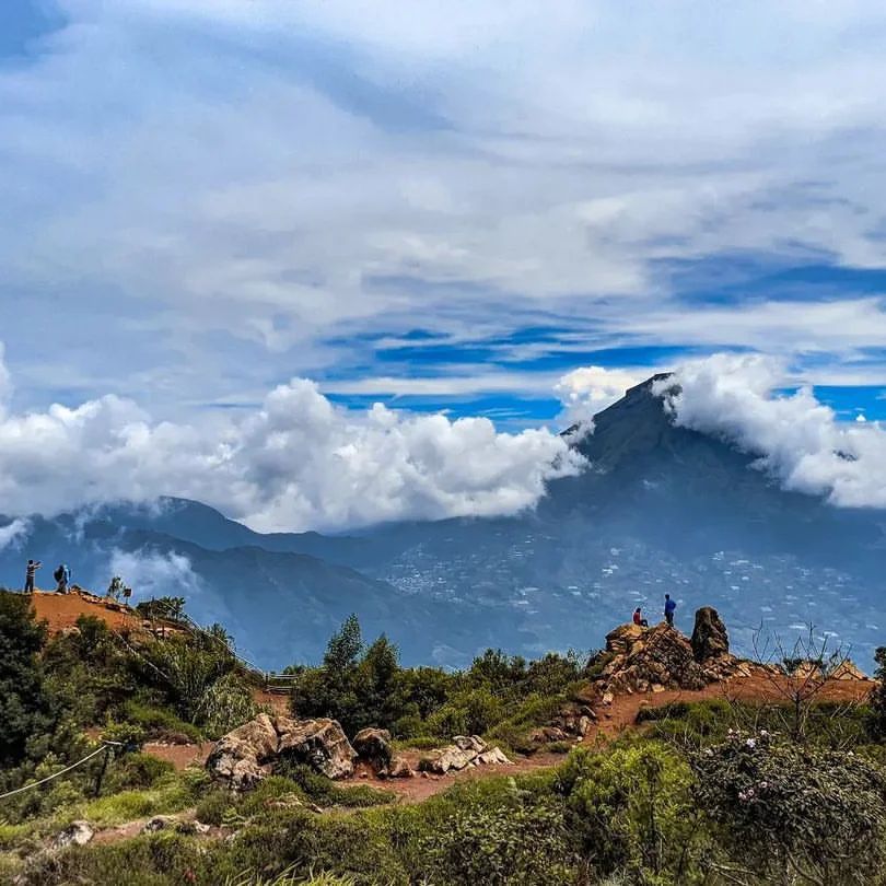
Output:
[[[487,645],[588,649],[638,605],[657,618],[665,591],[678,622],[716,606],[744,653],[761,626],[791,638],[812,622],[870,664],[886,628],[886,512],[784,491],[754,467],[758,453],[674,424],[654,381],[576,436],[587,470],[513,517],[263,535],[184,499],[104,505],[34,517],[0,550],[0,580],[20,584],[26,556],[66,559],[94,584],[115,550],[184,557],[194,615],[269,666],[316,661],[350,611],[410,663],[462,665]]]

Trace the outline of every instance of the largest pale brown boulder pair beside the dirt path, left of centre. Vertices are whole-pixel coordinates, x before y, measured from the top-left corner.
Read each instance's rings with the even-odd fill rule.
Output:
[[[353,774],[355,758],[335,720],[290,720],[263,713],[220,738],[206,766],[214,778],[234,790],[245,790],[269,776],[282,759],[308,763],[330,779],[342,779]]]

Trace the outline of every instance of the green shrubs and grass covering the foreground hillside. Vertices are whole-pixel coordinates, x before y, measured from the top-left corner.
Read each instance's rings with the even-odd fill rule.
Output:
[[[221,634],[118,637],[94,619],[48,639],[0,594],[0,793],[125,741],[0,803],[0,882],[25,886],[886,886],[886,695],[813,704],[797,738],[777,711],[712,700],[648,710],[606,747],[534,774],[455,783],[417,805],[292,767],[246,794],[140,753],[147,736],[217,735],[255,712],[254,679]],[[878,655],[886,668],[886,650]],[[598,661],[487,651],[463,673],[404,668],[349,619],[317,667],[292,668],[298,715],[423,744],[455,732],[525,741]],[[879,676],[883,676],[881,673]],[[96,791],[96,786],[100,790]],[[96,795],[97,794],[97,795]],[[109,826],[188,811],[158,833],[47,852],[74,819]],[[224,838],[224,839],[222,839]]]

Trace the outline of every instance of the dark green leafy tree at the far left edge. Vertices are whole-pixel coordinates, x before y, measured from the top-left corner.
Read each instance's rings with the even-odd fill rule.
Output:
[[[53,725],[53,706],[37,658],[46,637],[31,599],[0,591],[0,768],[21,762],[28,738]]]

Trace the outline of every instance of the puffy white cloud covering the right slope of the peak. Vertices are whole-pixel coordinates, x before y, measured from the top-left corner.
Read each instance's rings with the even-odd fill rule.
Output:
[[[841,506],[886,508],[886,431],[876,422],[840,423],[808,387],[779,394],[786,384],[779,360],[716,354],[681,366],[656,389],[678,424],[759,455],[786,489]]]

